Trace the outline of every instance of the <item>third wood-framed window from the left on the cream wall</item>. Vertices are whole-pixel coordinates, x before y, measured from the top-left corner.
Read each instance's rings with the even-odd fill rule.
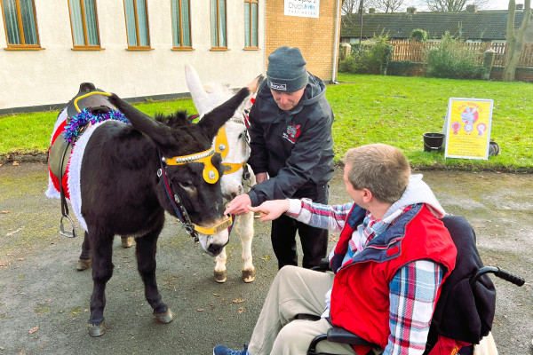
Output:
[[[147,0],[124,0],[128,49],[150,49],[148,32]]]

